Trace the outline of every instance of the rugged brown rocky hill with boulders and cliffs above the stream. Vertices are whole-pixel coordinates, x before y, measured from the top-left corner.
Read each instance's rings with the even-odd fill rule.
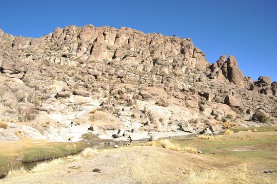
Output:
[[[41,38],[0,30],[0,139],[154,140],[275,124],[277,82],[209,63],[190,38],[69,26]],[[232,121],[232,123],[230,123]]]

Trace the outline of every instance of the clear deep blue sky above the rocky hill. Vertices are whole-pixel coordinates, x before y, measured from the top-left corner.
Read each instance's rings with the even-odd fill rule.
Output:
[[[1,1],[0,28],[40,37],[69,25],[191,37],[209,62],[234,55],[245,76],[277,81],[277,1]]]

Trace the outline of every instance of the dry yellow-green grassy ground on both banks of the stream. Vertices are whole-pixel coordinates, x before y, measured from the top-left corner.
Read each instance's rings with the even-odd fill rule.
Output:
[[[96,154],[94,150],[88,150],[88,153],[65,157],[51,167],[46,164],[39,172],[26,172],[24,169],[15,171],[3,182],[68,183],[72,179],[83,178],[82,182],[92,179],[95,183],[107,183],[115,182],[118,178],[123,179],[118,182],[126,183],[276,184],[276,127],[260,127],[258,132],[232,130],[234,133],[225,135],[179,137],[108,148],[98,151],[97,156],[93,156]],[[14,155],[24,155],[22,160],[35,160],[41,155],[53,157],[61,152],[73,153],[72,148],[75,151],[78,147],[44,141],[18,144],[21,147],[9,148],[13,150],[13,160]],[[32,144],[36,146],[30,146]],[[204,154],[198,154],[196,150]],[[10,162],[10,158],[7,152],[1,157],[6,163]],[[103,174],[95,175],[91,172],[93,168],[100,168]],[[264,173],[268,170],[273,170],[273,173]],[[53,176],[58,180],[52,179]]]

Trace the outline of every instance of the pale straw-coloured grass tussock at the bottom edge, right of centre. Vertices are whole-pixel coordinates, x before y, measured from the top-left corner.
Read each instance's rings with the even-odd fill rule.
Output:
[[[191,172],[186,178],[188,184],[225,184],[230,183],[220,171]]]

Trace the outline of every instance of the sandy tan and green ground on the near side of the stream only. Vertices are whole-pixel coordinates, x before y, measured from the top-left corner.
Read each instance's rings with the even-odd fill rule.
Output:
[[[244,131],[213,141],[172,142],[201,148],[205,154],[171,151],[159,145],[120,147],[80,160],[65,157],[60,164],[9,175],[0,183],[188,183],[192,172],[201,176],[206,171],[227,179],[216,183],[277,183],[277,132]],[[267,169],[274,172],[264,173]]]

